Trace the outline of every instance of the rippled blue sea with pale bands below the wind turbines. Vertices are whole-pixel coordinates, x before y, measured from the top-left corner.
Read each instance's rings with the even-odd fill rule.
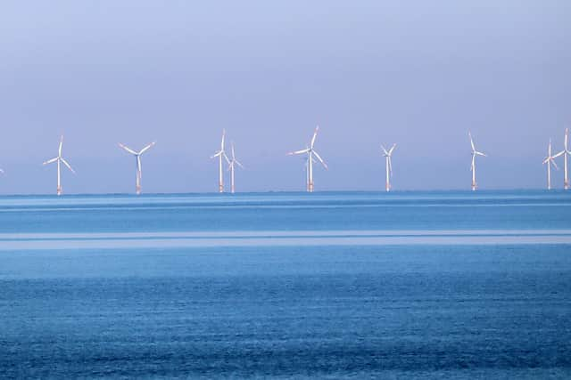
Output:
[[[571,192],[0,197],[0,377],[571,378]]]

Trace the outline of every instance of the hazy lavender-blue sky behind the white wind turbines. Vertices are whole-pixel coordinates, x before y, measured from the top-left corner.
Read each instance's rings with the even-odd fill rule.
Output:
[[[571,127],[571,2],[6,1],[0,4],[0,194],[543,188]],[[562,164],[561,160],[559,163]],[[562,171],[553,184],[562,187]],[[228,178],[228,177],[227,177]]]

